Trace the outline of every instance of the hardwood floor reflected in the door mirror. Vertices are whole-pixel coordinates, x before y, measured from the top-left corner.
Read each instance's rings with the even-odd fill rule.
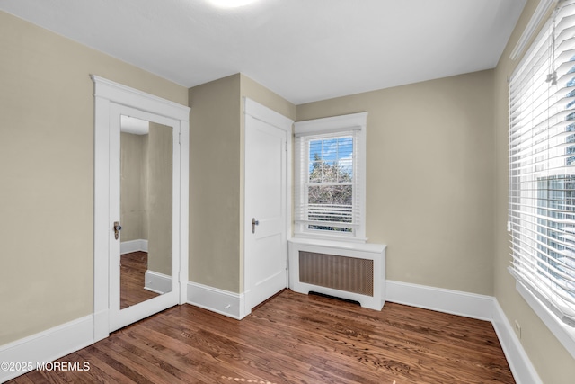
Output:
[[[119,308],[124,309],[158,296],[144,289],[147,270],[147,252],[132,252],[121,255],[119,272]]]

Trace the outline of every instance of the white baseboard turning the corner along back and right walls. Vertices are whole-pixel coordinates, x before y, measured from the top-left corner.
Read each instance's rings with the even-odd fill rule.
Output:
[[[411,307],[491,321],[517,384],[541,384],[497,299],[401,281],[387,281],[386,300]]]

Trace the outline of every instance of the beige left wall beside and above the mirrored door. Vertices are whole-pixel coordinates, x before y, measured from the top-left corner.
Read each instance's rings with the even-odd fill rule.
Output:
[[[93,312],[93,82],[188,90],[0,12],[0,344]]]

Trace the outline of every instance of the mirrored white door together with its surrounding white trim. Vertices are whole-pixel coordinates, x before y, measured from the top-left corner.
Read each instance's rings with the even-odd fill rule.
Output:
[[[92,78],[98,341],[186,301],[190,108]]]

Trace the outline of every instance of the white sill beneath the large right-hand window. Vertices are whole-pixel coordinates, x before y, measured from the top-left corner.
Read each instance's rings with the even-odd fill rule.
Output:
[[[516,281],[515,287],[521,297],[526,300],[529,307],[541,318],[544,325],[549,328],[563,347],[575,358],[575,328],[567,326],[559,320],[553,312],[547,308],[540,299],[537,299],[520,281]]]

